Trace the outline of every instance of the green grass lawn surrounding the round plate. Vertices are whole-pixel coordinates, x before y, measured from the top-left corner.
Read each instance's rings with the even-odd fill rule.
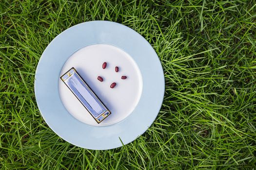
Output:
[[[256,1],[169,1],[1,0],[0,169],[256,169]],[[165,75],[153,125],[107,151],[62,140],[34,94],[46,46],[91,20],[144,36]]]

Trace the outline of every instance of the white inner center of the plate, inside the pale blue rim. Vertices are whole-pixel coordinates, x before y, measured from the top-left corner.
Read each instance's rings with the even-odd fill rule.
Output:
[[[107,62],[105,69],[102,68],[104,62]],[[69,57],[59,77],[72,67],[112,112],[98,124],[59,79],[60,99],[76,119],[93,126],[106,126],[125,119],[135,109],[141,96],[142,77],[137,64],[125,51],[106,44],[86,46]],[[115,67],[119,68],[118,72]],[[98,81],[98,76],[103,78],[103,82]],[[121,76],[127,76],[127,79],[121,79]],[[110,88],[114,82],[117,85]]]

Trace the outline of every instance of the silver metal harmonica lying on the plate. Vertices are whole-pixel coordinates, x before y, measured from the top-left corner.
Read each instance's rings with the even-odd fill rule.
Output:
[[[98,123],[111,114],[75,68],[70,68],[60,79]]]

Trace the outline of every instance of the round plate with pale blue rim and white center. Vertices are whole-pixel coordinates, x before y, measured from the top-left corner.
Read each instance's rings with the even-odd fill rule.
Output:
[[[59,78],[72,67],[112,112],[99,124]],[[64,140],[94,150],[118,148],[143,134],[164,95],[154,49],[134,30],[110,21],[84,22],[59,34],[43,52],[35,79],[36,100],[49,127]],[[117,85],[110,88],[113,82]]]

